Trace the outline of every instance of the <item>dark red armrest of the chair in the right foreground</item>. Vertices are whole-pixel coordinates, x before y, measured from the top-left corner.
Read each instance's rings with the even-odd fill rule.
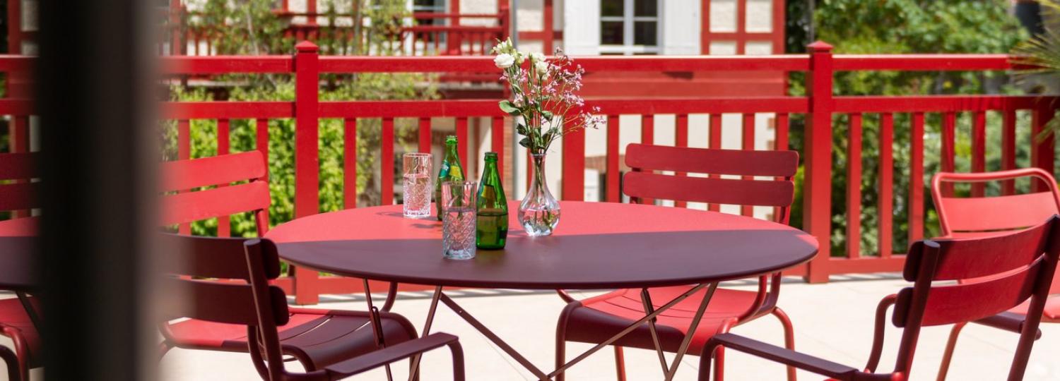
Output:
[[[707,343],[707,348],[714,348],[718,345],[724,346],[726,349],[739,350],[765,360],[791,365],[831,378],[847,378],[859,371],[859,369],[854,367],[815,358],[810,355],[800,353],[788,348],[762,343],[757,340],[747,339],[732,333],[714,335],[710,339],[710,342]],[[707,353],[704,352],[704,355]]]

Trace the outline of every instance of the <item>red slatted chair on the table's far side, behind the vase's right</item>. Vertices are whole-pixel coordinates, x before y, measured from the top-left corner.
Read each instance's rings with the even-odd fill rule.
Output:
[[[634,202],[640,199],[667,199],[736,205],[776,207],[774,219],[788,223],[789,206],[794,199],[792,177],[798,168],[795,151],[748,151],[728,149],[677,148],[631,144],[625,148],[625,164],[634,171],[625,174],[623,193]],[[679,177],[654,174],[653,170],[709,174],[711,178]],[[721,179],[718,175],[741,176]],[[754,180],[753,177],[771,180]],[[654,288],[647,301],[670,301],[690,286]],[[705,291],[701,291],[705,292]],[[795,334],[791,320],[777,307],[780,273],[758,278],[758,291],[719,288],[707,307],[688,352],[699,352],[707,340],[725,333],[735,326],[773,314],[784,328],[784,345],[794,349]],[[568,303],[560,314],[556,327],[556,366],[565,362],[567,341],[600,343],[644,315],[646,298],[641,290],[616,290],[584,301],[576,301],[564,291],[560,296]],[[701,296],[702,298],[702,296]],[[701,298],[689,297],[657,319],[659,346],[676,351],[691,326],[692,313]],[[691,305],[690,305],[691,304]],[[658,307],[653,303],[653,308]],[[622,347],[655,349],[650,327],[642,326],[620,339],[615,345],[615,361],[619,379],[624,379]],[[719,360],[721,364],[721,360]],[[724,375],[717,369],[719,379]],[[789,368],[789,380],[795,380],[795,369]],[[562,380],[563,376],[556,378]]]

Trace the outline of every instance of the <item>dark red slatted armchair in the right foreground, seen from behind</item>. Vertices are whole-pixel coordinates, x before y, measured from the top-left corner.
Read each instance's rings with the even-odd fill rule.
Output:
[[[834,380],[907,380],[921,327],[974,321],[1020,333],[1008,380],[1022,380],[1030,349],[1041,335],[1038,324],[1045,308],[1049,283],[1060,255],[1060,216],[1008,235],[984,238],[941,238],[914,243],[903,277],[913,282],[884,297],[877,308],[876,332],[868,364],[863,369],[762,343],[732,333],[710,339],[701,358],[700,379],[710,373],[710,353],[721,347],[798,367]],[[964,284],[938,280],[973,279]],[[1026,319],[1004,311],[1030,300]],[[887,308],[891,323],[902,328],[895,369],[876,373],[883,351]]]

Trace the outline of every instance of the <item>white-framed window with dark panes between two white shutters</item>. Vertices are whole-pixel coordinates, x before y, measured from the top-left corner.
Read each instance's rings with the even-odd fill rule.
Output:
[[[658,54],[658,0],[600,0],[600,53]]]

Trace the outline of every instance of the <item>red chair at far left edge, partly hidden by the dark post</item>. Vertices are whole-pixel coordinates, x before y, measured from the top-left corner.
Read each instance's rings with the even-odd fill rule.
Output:
[[[34,197],[39,194],[36,188],[40,183],[29,181],[36,177],[34,170],[36,155],[0,153],[0,180],[23,180],[0,185],[0,211],[24,213],[21,211],[40,206]],[[0,221],[0,229],[16,226],[12,229],[24,231],[25,229],[20,225],[35,219],[16,216]],[[18,297],[0,301],[0,334],[11,338],[15,344],[14,352],[6,347],[0,347],[0,358],[3,358],[7,365],[7,378],[11,380],[29,380],[30,369],[43,365],[40,357],[40,334],[26,308],[40,311],[37,298],[19,293]]]

